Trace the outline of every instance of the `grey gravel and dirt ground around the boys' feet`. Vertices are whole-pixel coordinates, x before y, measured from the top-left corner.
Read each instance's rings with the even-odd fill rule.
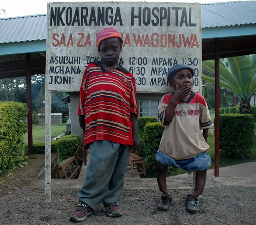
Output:
[[[81,181],[71,179],[73,185],[62,185],[64,183],[61,181],[53,182],[52,201],[46,204],[44,180],[36,178],[36,170],[28,172],[27,168],[14,170],[13,176],[4,178],[4,182],[0,184],[0,224],[74,224],[68,220],[68,216],[77,204]],[[228,179],[232,180],[231,185],[226,183]],[[191,191],[190,179],[168,179],[170,191],[173,193],[172,208],[169,212],[160,212],[157,210],[160,192],[156,180],[129,178],[125,180],[119,202],[123,211],[122,217],[109,218],[100,209],[97,214],[89,216],[80,224],[255,224],[256,186],[250,185],[254,178],[228,179],[209,179],[210,185],[206,185],[199,213],[190,214],[184,207],[185,196]]]

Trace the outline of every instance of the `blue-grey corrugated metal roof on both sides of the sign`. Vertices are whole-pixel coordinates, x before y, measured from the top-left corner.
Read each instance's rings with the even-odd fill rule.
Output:
[[[222,37],[236,36],[241,31],[237,30],[237,26],[249,24],[256,24],[256,1],[202,4],[203,38],[214,38],[215,35],[221,37],[223,32]],[[46,14],[2,18],[0,19],[0,44],[46,40],[46,26]],[[229,30],[225,31],[223,28],[229,28]],[[230,29],[235,29],[237,32],[230,32]],[[246,27],[244,32],[248,29],[255,30],[248,31],[248,35],[256,34],[255,26]]]

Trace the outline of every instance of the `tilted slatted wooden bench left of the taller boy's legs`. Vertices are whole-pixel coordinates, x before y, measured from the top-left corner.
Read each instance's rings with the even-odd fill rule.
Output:
[[[79,169],[79,165],[74,156],[63,160],[58,166],[59,178],[72,178],[76,171]]]

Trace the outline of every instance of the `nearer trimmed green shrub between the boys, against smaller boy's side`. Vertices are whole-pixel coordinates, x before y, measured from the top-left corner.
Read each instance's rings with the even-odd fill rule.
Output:
[[[155,174],[156,172],[156,152],[158,150],[164,127],[161,123],[146,123],[141,141],[144,146],[145,163],[147,174]]]

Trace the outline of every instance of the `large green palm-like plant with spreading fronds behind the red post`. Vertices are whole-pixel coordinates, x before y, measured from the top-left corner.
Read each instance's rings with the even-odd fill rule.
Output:
[[[250,99],[256,92],[256,54],[220,59],[220,86],[235,94],[240,102],[240,113],[251,113]],[[202,79],[215,82],[214,60],[206,60],[203,68],[211,72]]]

